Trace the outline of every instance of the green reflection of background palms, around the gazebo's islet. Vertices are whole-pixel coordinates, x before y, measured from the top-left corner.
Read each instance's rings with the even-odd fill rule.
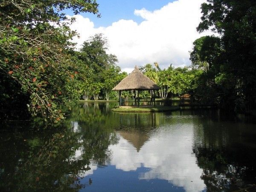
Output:
[[[165,123],[162,113],[111,113],[109,108],[116,103],[87,103],[73,108],[69,119],[83,123],[84,127],[104,127],[113,131],[120,128],[152,128]]]

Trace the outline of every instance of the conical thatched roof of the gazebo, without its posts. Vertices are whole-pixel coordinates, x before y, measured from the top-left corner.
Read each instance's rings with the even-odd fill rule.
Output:
[[[125,77],[112,90],[158,90],[160,89],[154,81],[143,75],[139,68],[135,69]]]

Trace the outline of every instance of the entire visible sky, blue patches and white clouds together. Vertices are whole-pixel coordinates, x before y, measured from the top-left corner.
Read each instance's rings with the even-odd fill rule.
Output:
[[[90,36],[102,33],[108,39],[108,53],[116,55],[122,71],[157,62],[160,68],[191,64],[189,51],[199,34],[200,6],[205,0],[97,0],[101,17],[91,13],[75,15],[70,28],[79,33],[77,48]],[[73,16],[67,11],[68,16]]]

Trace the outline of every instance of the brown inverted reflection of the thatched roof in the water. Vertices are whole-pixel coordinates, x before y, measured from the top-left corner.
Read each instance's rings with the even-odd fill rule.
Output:
[[[119,134],[129,143],[132,143],[137,152],[140,151],[140,148],[149,139],[148,134],[140,131],[119,131]]]

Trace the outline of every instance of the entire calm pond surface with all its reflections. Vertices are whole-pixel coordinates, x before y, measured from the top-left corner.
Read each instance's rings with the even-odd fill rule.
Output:
[[[256,124],[219,111],[111,113],[82,103],[44,131],[0,131],[0,191],[255,191]]]

